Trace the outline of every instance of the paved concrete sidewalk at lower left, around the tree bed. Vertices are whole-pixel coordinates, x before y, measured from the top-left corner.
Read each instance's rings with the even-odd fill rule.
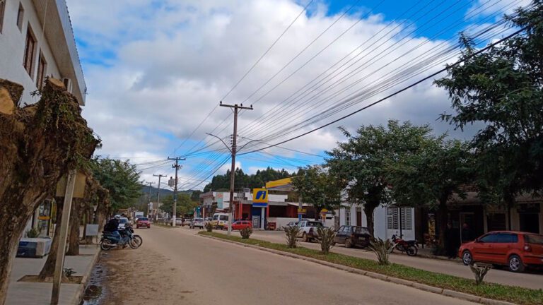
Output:
[[[74,276],[83,276],[81,284],[62,284],[59,304],[77,305],[83,297],[83,290],[95,262],[98,260],[100,248],[96,245],[79,246],[79,256],[66,256],[64,268],[73,268]],[[16,258],[9,277],[7,305],[47,305],[51,301],[52,284],[17,282],[25,275],[38,275],[47,256],[44,258]]]

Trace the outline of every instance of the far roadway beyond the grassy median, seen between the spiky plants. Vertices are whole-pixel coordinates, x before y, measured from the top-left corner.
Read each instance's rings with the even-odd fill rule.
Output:
[[[222,232],[226,234],[226,231],[216,230],[215,232]],[[238,232],[235,232],[234,234],[239,235]],[[264,241],[271,241],[280,244],[285,242],[285,235],[282,231],[255,231],[251,235],[251,238],[262,239]],[[316,243],[306,243],[300,241],[300,245],[306,248],[320,250],[320,245]],[[332,251],[349,256],[376,260],[373,252],[364,249],[347,249],[343,245],[337,245],[332,248]],[[438,260],[433,258],[411,257],[407,256],[406,254],[394,253],[392,256],[390,256],[390,261],[393,263],[408,265],[437,273],[445,273],[448,275],[455,275],[470,279],[474,278],[472,271],[460,262]],[[508,270],[492,269],[486,275],[484,280],[486,282],[495,282],[503,285],[520,286],[531,289],[543,289],[543,275],[541,273],[512,273]]]

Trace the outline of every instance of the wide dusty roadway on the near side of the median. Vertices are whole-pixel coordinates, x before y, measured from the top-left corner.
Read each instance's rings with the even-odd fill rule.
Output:
[[[145,272],[135,271],[140,276],[125,283],[132,291],[146,287],[141,304],[473,304],[196,233],[138,229],[136,234],[144,239],[141,248],[118,251],[125,263],[137,257],[155,264]],[[111,289],[111,294],[122,293]],[[125,298],[119,304],[139,301]]]

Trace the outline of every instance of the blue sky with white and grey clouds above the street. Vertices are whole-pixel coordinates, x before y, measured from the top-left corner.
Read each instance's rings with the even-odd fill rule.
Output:
[[[469,139],[477,126],[459,131],[438,119],[452,112],[447,92],[432,84],[442,73],[252,152],[439,71],[457,59],[459,32],[479,37],[528,2],[67,0],[88,88],[83,116],[103,141],[95,154],[130,160],[155,183],[153,174],[173,176],[168,157],[185,157],[180,189],[202,189],[230,168],[230,152],[214,137],[230,145],[233,134],[221,101],[253,107],[238,118],[236,166],[246,173],[322,163],[344,140],[339,126],[409,120]],[[507,32],[492,28],[477,44]]]

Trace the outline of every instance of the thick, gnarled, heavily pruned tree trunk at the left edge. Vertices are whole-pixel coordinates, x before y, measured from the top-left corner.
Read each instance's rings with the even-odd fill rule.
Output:
[[[36,104],[20,107],[23,87],[0,79],[0,304],[18,240],[35,209],[54,195],[62,175],[88,165],[100,140],[74,95],[49,78]]]

